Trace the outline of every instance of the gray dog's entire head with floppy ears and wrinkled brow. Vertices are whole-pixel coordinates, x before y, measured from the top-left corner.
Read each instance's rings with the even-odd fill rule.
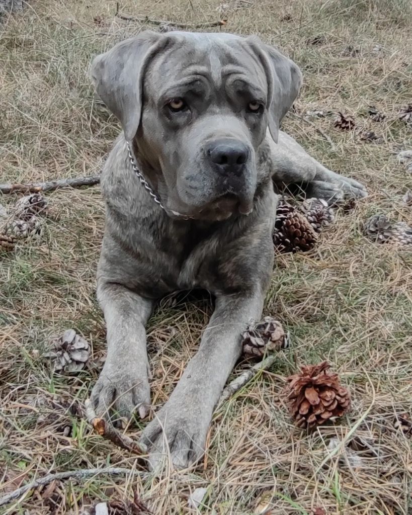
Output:
[[[252,210],[256,151],[302,80],[256,37],[150,31],[96,57],[91,77],[168,214],[212,220]]]

